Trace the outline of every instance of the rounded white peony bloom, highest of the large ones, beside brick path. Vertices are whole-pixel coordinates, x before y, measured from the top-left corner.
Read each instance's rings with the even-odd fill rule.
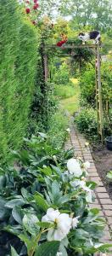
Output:
[[[80,163],[74,158],[68,160],[67,168],[70,174],[74,174],[75,177],[80,177],[82,174]]]

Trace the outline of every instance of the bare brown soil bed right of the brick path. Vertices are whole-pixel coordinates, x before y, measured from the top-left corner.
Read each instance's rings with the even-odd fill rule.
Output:
[[[97,167],[98,175],[104,183],[109,197],[112,199],[112,180],[110,181],[106,177],[107,172],[112,171],[112,151],[105,147],[103,148],[102,145],[94,145],[92,147],[92,158]]]

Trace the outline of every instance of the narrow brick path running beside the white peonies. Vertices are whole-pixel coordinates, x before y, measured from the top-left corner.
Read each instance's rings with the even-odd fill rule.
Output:
[[[104,188],[94,161],[92,160],[92,154],[89,147],[85,147],[86,139],[77,131],[75,125],[70,124],[70,139],[65,143],[65,149],[75,148],[75,156],[80,156],[82,160],[89,161],[91,167],[88,169],[90,180],[98,183],[98,187],[95,190],[95,202],[90,206],[96,207],[100,210],[100,216],[104,218],[106,222],[105,235],[102,239],[105,243],[112,243],[111,230],[112,230],[112,201],[109,199],[109,195]],[[97,254],[98,255],[98,254]],[[111,254],[109,254],[111,255]]]

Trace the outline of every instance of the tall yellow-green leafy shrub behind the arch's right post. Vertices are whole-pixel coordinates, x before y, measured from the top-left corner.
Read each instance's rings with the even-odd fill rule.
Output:
[[[112,99],[112,70],[109,67],[109,63],[104,63],[101,69],[102,80],[102,93],[103,93],[103,106],[106,108],[106,102],[111,103]],[[96,85],[95,85],[95,71],[94,69],[88,69],[81,75],[81,100],[83,105],[90,104],[95,106],[96,104]]]

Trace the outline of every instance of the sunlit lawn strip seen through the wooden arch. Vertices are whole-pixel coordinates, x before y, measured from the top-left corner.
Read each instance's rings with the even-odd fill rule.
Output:
[[[61,100],[61,105],[64,110],[68,110],[69,113],[72,115],[73,113],[77,112],[80,108],[80,86],[78,83],[78,79],[71,79],[72,83],[74,84],[74,95],[69,97],[64,98]]]

